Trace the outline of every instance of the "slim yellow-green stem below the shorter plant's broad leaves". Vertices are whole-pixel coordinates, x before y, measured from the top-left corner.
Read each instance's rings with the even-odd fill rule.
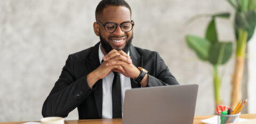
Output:
[[[221,104],[221,96],[220,96],[220,85],[221,80],[218,75],[218,65],[213,65],[213,84],[214,84],[214,97],[215,97],[215,107]]]

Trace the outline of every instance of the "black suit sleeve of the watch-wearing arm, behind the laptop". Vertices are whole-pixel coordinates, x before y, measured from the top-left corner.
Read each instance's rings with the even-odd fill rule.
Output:
[[[164,60],[156,52],[156,72],[155,76],[148,74],[147,86],[164,86],[164,85],[178,85],[179,83],[175,77],[170,73],[169,68],[164,63]]]

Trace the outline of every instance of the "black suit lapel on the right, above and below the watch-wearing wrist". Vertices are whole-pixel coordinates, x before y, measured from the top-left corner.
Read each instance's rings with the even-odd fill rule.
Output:
[[[132,64],[135,67],[143,67],[143,56],[140,56],[137,50],[132,45],[130,47],[130,56],[132,59]],[[141,85],[138,83],[135,83],[132,78],[130,79],[131,79],[132,88],[141,87]]]

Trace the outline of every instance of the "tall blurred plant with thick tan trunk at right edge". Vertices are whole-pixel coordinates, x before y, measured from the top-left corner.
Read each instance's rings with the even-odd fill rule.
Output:
[[[254,34],[256,25],[255,0],[227,0],[235,10],[234,30],[236,36],[235,69],[231,79],[231,107],[241,100],[241,84],[243,78],[246,43]]]

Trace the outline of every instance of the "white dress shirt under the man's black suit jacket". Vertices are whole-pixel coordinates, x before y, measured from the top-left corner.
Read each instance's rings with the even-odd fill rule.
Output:
[[[101,46],[101,44],[100,44]],[[102,57],[104,57],[103,52],[99,46],[99,59],[100,63],[102,61]],[[130,52],[127,53],[130,56]],[[111,72],[106,77],[102,78],[102,118],[111,119],[112,118],[112,83],[114,79],[114,73]],[[121,81],[121,98],[122,98],[122,117],[123,117],[123,108],[124,108],[124,95],[125,91],[131,89],[131,80],[130,77],[125,77],[120,74]]]

